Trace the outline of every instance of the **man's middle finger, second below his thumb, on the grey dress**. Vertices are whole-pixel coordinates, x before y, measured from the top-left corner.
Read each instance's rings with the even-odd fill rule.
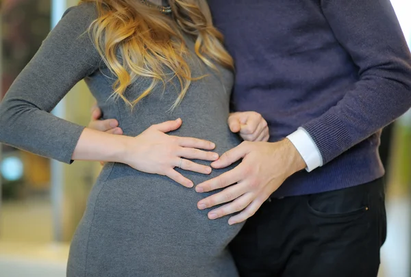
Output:
[[[198,187],[198,186],[197,186]],[[196,190],[197,190],[196,187]],[[247,186],[243,183],[238,183],[236,185],[232,185],[230,187],[227,187],[224,189],[222,192],[219,192],[218,194],[213,194],[212,196],[209,196],[207,198],[204,198],[203,200],[200,200],[197,203],[197,207],[199,209],[207,209],[210,207],[214,207],[216,205],[220,205],[226,202],[230,202],[243,194],[247,192]],[[251,201],[250,201],[251,202]],[[242,207],[244,209],[245,207]],[[212,218],[215,219],[216,217]]]

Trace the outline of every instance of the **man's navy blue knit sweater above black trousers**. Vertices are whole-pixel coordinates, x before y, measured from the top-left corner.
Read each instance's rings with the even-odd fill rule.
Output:
[[[303,127],[322,155],[275,196],[384,174],[379,130],[411,107],[411,55],[389,0],[208,3],[236,62],[232,108],[260,112],[272,142]]]

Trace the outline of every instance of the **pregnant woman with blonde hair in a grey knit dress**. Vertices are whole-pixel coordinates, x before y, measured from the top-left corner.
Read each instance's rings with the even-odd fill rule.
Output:
[[[207,195],[192,189],[230,170],[208,163],[240,142],[227,126],[232,58],[206,1],[169,5],[82,1],[1,103],[0,142],[66,163],[106,161],[71,243],[69,277],[237,276],[227,244],[242,225],[208,220],[197,209]],[[124,135],[49,114],[82,79]]]

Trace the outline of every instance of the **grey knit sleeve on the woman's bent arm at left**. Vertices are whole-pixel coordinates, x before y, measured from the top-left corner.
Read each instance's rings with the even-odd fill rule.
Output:
[[[0,104],[0,142],[71,163],[84,127],[50,112],[99,66],[101,58],[87,31],[96,16],[95,6],[88,4],[64,13]]]

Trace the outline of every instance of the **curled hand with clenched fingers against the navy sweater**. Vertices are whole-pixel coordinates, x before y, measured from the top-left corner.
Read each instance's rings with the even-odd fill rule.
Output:
[[[229,114],[228,125],[233,133],[238,133],[242,140],[248,142],[268,142],[270,137],[266,120],[256,111]]]

